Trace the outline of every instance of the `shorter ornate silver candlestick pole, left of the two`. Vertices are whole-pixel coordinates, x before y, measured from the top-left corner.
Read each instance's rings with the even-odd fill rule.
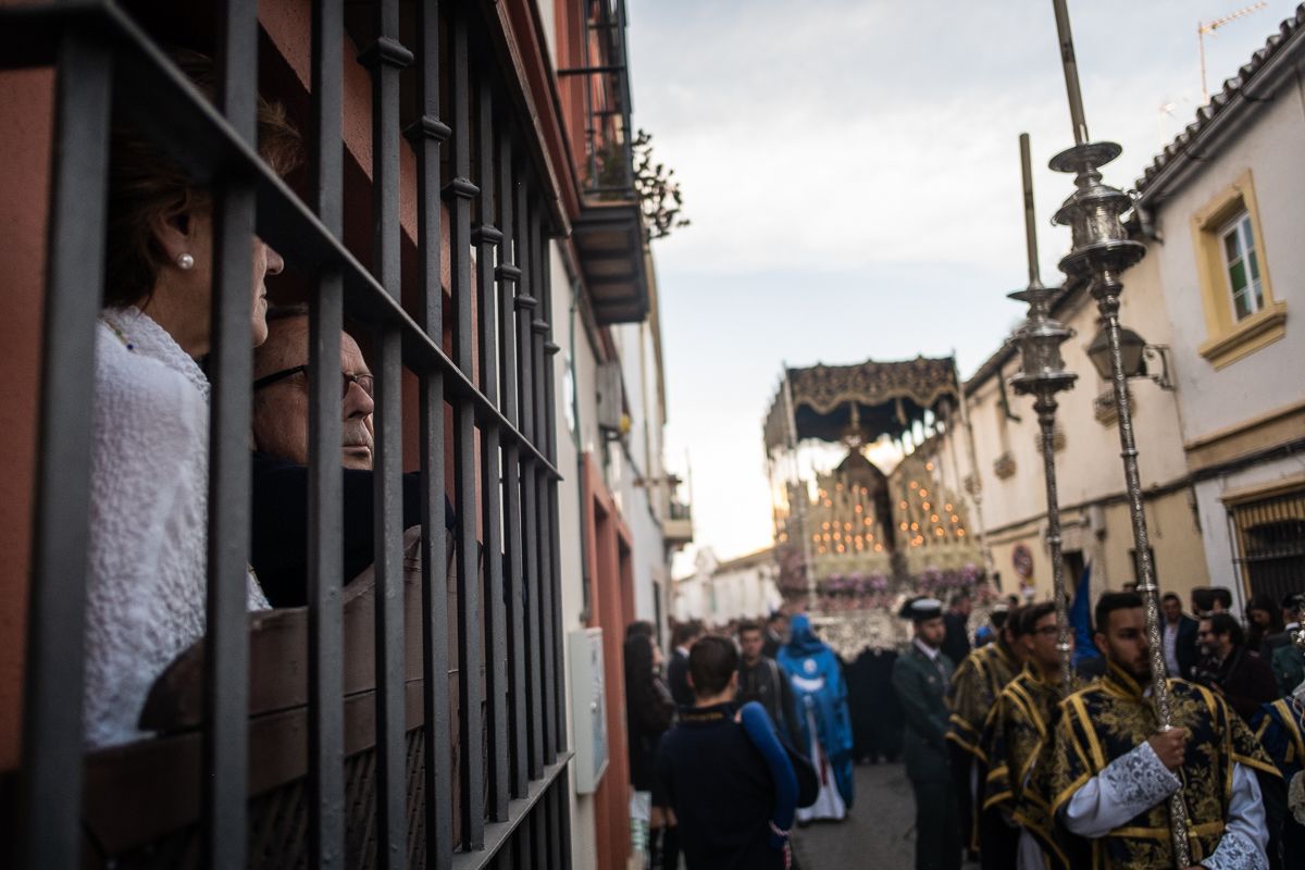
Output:
[[[1054,291],[1043,286],[1037,267],[1037,228],[1034,226],[1034,176],[1028,162],[1028,133],[1019,134],[1019,162],[1024,176],[1024,237],[1028,244],[1028,287],[1010,293],[1028,303],[1028,317],[1015,333],[1019,347],[1019,373],[1010,378],[1015,393],[1034,397],[1037,425],[1043,436],[1043,473],[1047,480],[1047,545],[1052,550],[1052,595],[1056,601],[1056,648],[1061,659],[1062,694],[1073,690],[1070,674],[1069,603],[1065,595],[1065,566],[1061,558],[1060,497],[1056,493],[1056,394],[1073,389],[1078,378],[1065,370],[1060,346],[1070,331],[1051,316]]]

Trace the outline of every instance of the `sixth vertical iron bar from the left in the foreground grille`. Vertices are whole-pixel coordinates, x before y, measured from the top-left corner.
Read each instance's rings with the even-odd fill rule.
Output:
[[[474,368],[474,322],[471,287],[471,201],[476,187],[471,183],[471,81],[467,51],[467,12],[452,10],[453,69],[453,181],[446,194],[452,198],[453,226],[449,232],[449,261],[453,270],[453,297],[457,312],[454,355],[458,368],[471,376]],[[480,734],[480,584],[476,566],[476,455],[475,407],[459,397],[455,410],[454,489],[458,500],[458,674],[459,713],[462,727],[462,844],[465,849],[484,848],[484,793]],[[485,558],[493,556],[487,553]]]

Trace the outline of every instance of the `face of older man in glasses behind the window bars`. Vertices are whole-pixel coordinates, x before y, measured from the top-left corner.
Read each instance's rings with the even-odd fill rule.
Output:
[[[254,356],[254,380],[308,363],[308,318],[274,320],[268,342]],[[341,333],[339,369],[342,376],[371,376],[358,343]],[[342,382],[343,383],[343,382]],[[341,400],[343,413],[343,454],[346,468],[372,467],[372,397],[358,385]],[[308,372],[269,383],[254,393],[253,442],[262,453],[308,464]]]

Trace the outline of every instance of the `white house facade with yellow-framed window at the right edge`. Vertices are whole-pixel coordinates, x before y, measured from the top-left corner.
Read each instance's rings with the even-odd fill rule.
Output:
[[[1305,590],[1305,9],[1139,181],[1211,580]]]

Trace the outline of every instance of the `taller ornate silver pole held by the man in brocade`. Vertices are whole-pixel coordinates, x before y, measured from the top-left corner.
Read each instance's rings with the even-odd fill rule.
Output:
[[[1090,142],[1083,119],[1083,98],[1078,87],[1078,64],[1074,60],[1074,38],[1070,33],[1065,0],[1052,0],[1056,30],[1060,35],[1061,65],[1065,90],[1074,123],[1074,147],[1052,158],[1051,168],[1073,172],[1075,190],[1056,213],[1053,220],[1069,224],[1074,248],[1060,261],[1070,279],[1091,282],[1092,297],[1101,314],[1101,326],[1109,340],[1114,408],[1118,413],[1120,447],[1124,457],[1124,479],[1128,487],[1129,514],[1133,519],[1133,543],[1137,552],[1138,592],[1146,608],[1147,640],[1151,644],[1152,699],[1160,730],[1171,727],[1169,687],[1165,683],[1164,643],[1160,630],[1160,596],[1155,584],[1155,566],[1142,513],[1142,477],[1138,473],[1138,450],[1133,437],[1133,408],[1129,402],[1128,376],[1120,353],[1120,293],[1125,269],[1142,260],[1146,247],[1128,237],[1121,217],[1133,207],[1129,194],[1101,183],[1099,167],[1120,155],[1114,142]],[[1169,827],[1173,833],[1176,866],[1188,867],[1188,811],[1180,789],[1169,798]]]

